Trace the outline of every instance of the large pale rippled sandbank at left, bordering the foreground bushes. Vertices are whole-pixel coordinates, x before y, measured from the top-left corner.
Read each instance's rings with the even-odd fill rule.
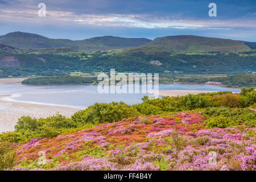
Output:
[[[23,115],[46,118],[56,114],[58,111],[60,114],[70,117],[73,113],[80,110],[74,107],[27,104],[2,100],[2,98],[9,96],[11,95],[0,96],[0,133],[3,131],[13,131],[18,118]]]

